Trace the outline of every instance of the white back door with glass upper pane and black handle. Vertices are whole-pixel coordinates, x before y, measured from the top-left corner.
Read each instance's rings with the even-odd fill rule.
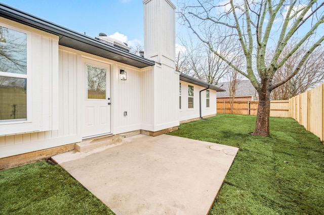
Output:
[[[85,64],[85,106],[83,137],[110,133],[110,65]]]

